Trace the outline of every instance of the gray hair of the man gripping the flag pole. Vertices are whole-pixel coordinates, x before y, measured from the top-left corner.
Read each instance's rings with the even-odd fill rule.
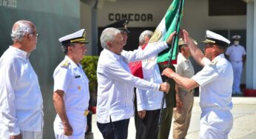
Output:
[[[109,27],[101,33],[101,47],[107,49],[107,41],[114,41],[115,35],[121,33],[120,30]]]

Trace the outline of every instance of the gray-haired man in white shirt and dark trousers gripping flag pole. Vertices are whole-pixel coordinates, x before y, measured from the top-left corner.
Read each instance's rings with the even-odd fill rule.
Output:
[[[102,32],[101,46],[104,50],[101,51],[97,67],[97,125],[104,138],[127,138],[129,118],[134,115],[134,87],[161,91],[159,93],[168,92],[168,83],[157,84],[132,75],[128,63],[150,58],[165,50],[174,34],[158,46],[128,52],[123,50],[120,30],[110,27]]]

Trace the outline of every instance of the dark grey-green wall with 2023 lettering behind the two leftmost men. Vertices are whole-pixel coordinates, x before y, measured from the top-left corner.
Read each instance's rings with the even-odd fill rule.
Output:
[[[12,1],[16,7],[0,4],[0,55],[12,44],[10,33],[16,21],[24,19],[36,24],[40,36],[30,62],[38,75],[44,100],[43,138],[54,138],[53,70],[64,58],[58,38],[80,29],[80,4],[78,0]]]

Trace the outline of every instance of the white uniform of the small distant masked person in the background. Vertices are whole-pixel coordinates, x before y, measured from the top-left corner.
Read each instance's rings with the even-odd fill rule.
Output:
[[[246,50],[241,45],[236,47],[233,44],[226,49],[226,55],[229,55],[229,61],[231,62],[234,71],[233,91],[240,92],[240,81],[243,71],[243,55],[246,55]]]

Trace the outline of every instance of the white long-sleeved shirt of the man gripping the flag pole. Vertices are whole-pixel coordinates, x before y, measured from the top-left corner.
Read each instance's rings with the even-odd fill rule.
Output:
[[[160,84],[144,81],[130,73],[128,63],[141,61],[157,55],[166,49],[166,42],[161,42],[155,47],[145,50],[123,51],[116,55],[110,50],[104,49],[98,60],[98,98],[97,121],[98,123],[110,123],[132,117],[133,87],[157,91]]]

